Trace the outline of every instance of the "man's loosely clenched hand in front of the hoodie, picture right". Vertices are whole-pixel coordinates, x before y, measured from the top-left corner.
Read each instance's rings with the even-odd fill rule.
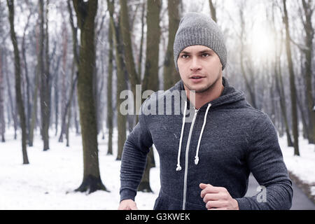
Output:
[[[200,183],[200,188],[202,189],[200,196],[204,199],[208,210],[239,210],[237,200],[231,197],[226,188],[205,183]]]

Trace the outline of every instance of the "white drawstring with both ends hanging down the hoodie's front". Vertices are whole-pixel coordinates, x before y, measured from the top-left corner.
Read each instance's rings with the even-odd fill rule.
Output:
[[[204,126],[206,125],[206,122],[207,122],[207,115],[208,115],[210,107],[211,107],[211,104],[208,104],[206,114],[204,115],[204,123],[202,125],[202,130],[200,132],[200,137],[198,140],[197,151],[196,151],[196,156],[195,156],[195,165],[198,165],[198,162],[199,162],[199,156],[198,155],[199,155],[200,142],[202,139],[202,134],[204,133]],[[183,125],[181,126],[181,138],[179,139],[179,155],[177,156],[176,171],[181,171],[181,144],[183,141],[183,131],[184,131],[185,122],[186,122],[186,111],[187,111],[187,101],[185,101],[185,109],[183,112]]]

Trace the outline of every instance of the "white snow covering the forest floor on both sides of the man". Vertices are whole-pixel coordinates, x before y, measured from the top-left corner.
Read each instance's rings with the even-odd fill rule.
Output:
[[[14,139],[13,130],[6,130],[6,142],[0,142],[0,210],[6,209],[62,209],[101,210],[118,209],[120,202],[120,161],[117,155],[117,132],[113,134],[113,155],[107,154],[107,140],[99,137],[99,169],[102,182],[110,192],[99,190],[87,195],[75,193],[83,179],[83,151],[80,135],[70,134],[70,147],[50,133],[50,150],[42,150],[39,133],[34,147],[28,147],[29,165],[22,165],[20,133]],[[309,183],[315,195],[315,145],[300,138],[300,157],[293,155],[293,148],[286,146],[286,139],[279,144],[288,170],[304,183]],[[160,189],[159,158],[155,153],[156,167],[151,169],[153,193],[137,193],[139,209],[153,209]]]

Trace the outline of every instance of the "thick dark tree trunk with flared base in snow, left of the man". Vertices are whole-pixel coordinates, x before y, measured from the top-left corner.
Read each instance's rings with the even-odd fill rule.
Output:
[[[80,53],[78,66],[78,105],[83,141],[83,182],[76,191],[93,193],[106,190],[99,174],[97,144],[97,120],[93,97],[95,66],[94,27],[97,0],[73,0],[78,27],[80,29]]]

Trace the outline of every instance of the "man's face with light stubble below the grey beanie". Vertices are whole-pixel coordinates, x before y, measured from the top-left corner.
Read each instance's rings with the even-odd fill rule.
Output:
[[[222,76],[220,58],[214,50],[203,45],[182,50],[177,65],[184,85],[196,93],[207,92]]]

